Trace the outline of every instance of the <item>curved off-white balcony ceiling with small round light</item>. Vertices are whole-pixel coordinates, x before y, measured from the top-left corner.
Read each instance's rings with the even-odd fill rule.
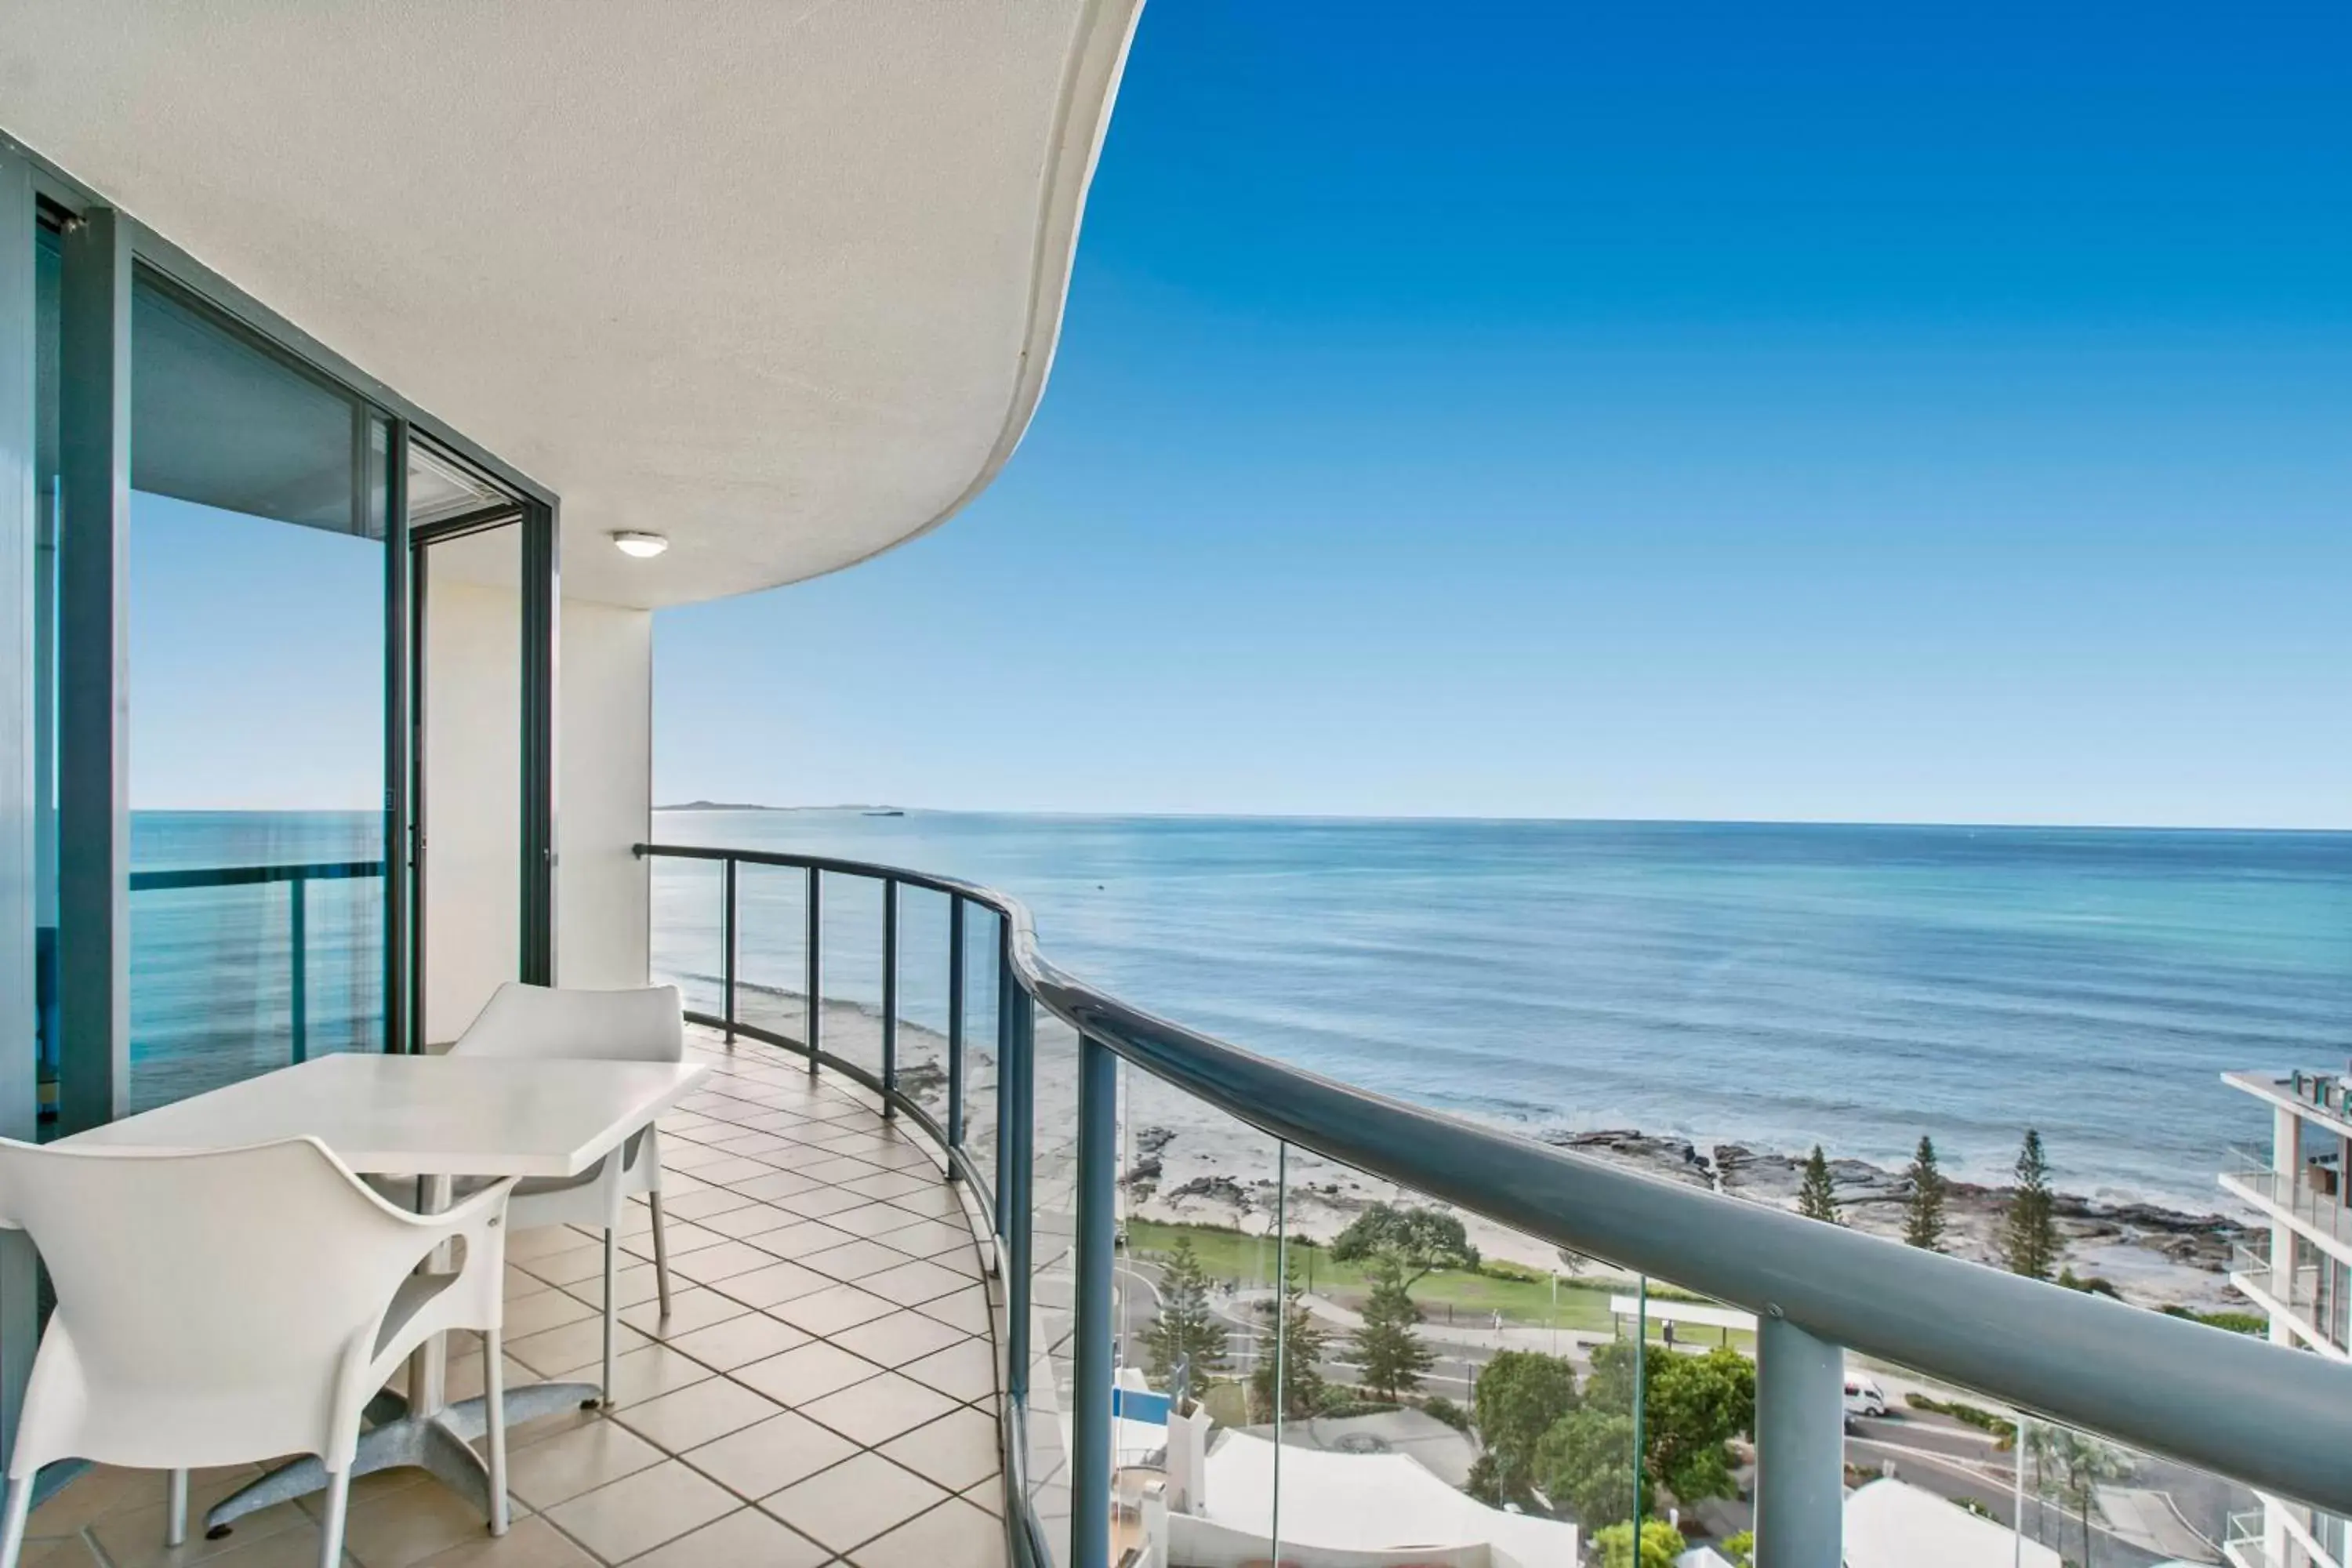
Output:
[[[1138,7],[26,0],[0,129],[562,494],[567,595],[682,604],[1011,456]]]

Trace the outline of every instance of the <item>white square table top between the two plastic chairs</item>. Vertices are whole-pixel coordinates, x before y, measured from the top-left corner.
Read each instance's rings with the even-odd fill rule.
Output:
[[[367,1175],[579,1175],[677,1105],[696,1063],[320,1056],[56,1147],[195,1154],[310,1135]]]

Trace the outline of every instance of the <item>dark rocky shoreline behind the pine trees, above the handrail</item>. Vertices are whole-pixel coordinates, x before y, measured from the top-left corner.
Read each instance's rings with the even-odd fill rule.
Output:
[[[1700,1152],[1684,1138],[1658,1138],[1632,1128],[1548,1133],[1543,1143],[1578,1154],[1597,1154],[1651,1175],[1729,1192],[1778,1208],[1797,1206],[1804,1161],[1792,1154],[1719,1143]],[[1875,1237],[1903,1234],[1910,1178],[1865,1159],[1832,1159],[1830,1185],[1839,1213],[1853,1229]],[[1945,1246],[1955,1258],[1999,1265],[1999,1229],[2009,1187],[1950,1180],[1945,1192]],[[2056,1194],[2063,1262],[2077,1276],[2105,1279],[2143,1307],[2192,1307],[2199,1312],[2251,1312],[2230,1291],[2230,1248],[2249,1227],[2225,1213],[2183,1213],[2159,1204],[2110,1204],[2074,1192]]]

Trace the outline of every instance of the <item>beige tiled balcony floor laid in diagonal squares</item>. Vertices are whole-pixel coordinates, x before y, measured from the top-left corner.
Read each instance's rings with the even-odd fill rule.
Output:
[[[811,1081],[783,1051],[729,1053],[701,1030],[689,1053],[715,1072],[661,1124],[670,1321],[656,1321],[637,1204],[614,1410],[508,1434],[503,1540],[423,1472],[358,1481],[348,1563],[1002,1568],[997,1352],[960,1187],[922,1133],[835,1074]],[[597,1378],[600,1284],[593,1234],[508,1241],[510,1385]],[[468,1340],[452,1342],[452,1399],[482,1385]],[[308,1507],[202,1540],[202,1509],[249,1474],[198,1472],[191,1540],[172,1552],[162,1474],[92,1469],[33,1514],[24,1561],[310,1568]]]

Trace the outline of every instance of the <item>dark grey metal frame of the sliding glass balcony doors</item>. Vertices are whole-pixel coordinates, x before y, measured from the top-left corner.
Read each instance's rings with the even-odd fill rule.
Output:
[[[202,303],[240,336],[346,393],[362,425],[383,430],[386,510],[386,1034],[414,1048],[407,952],[416,907],[405,875],[412,837],[412,668],[407,456],[412,442],[463,461],[524,508],[524,701],[522,701],[522,978],[555,969],[555,677],[560,498],[463,433],[433,418],[318,339],[308,336],[176,244],[115,209],[31,148],[0,136],[0,1135],[35,1140],[35,802],[31,795],[38,703],[33,682],[35,442],[35,244],[61,233],[59,491],[78,567],[59,581],[59,1079],[61,1126],[125,1112],[129,1093],[129,748],[127,581],[129,534],[129,334],[132,275],[148,270]],[[374,451],[374,430],[358,461]],[[360,475],[362,484],[376,475]],[[59,541],[61,550],[66,541]],[[0,1458],[5,1458],[40,1333],[40,1269],[24,1232],[0,1232]]]

